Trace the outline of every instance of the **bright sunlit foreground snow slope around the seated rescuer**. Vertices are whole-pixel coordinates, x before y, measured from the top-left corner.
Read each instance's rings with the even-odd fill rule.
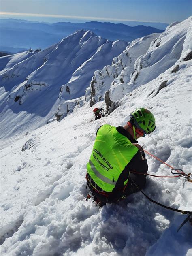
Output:
[[[139,139],[144,149],[192,172],[192,60],[183,61],[190,47],[186,36],[179,70],[171,73],[173,65],[126,94],[108,117],[90,122],[94,115],[87,102],[59,123],[27,134],[26,127],[22,134],[2,139],[1,255],[192,255],[190,223],[177,233],[186,215],[155,205],[140,192],[102,208],[85,201],[86,164],[96,130],[105,123],[124,125],[137,107],[150,109],[156,117],[155,132]],[[168,81],[167,86],[155,95],[162,81]],[[103,106],[104,102],[94,105]],[[21,151],[24,145],[26,150]],[[171,175],[167,166],[146,157],[149,173]],[[169,207],[192,211],[192,183],[183,178],[147,177],[144,191]]]

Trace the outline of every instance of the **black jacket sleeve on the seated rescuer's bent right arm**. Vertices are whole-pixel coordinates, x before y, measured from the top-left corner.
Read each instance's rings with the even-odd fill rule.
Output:
[[[136,171],[139,173],[147,173],[148,171],[148,164],[147,164],[147,159],[145,159],[145,153],[144,151],[138,151],[134,157],[130,160],[128,165],[128,170],[131,171]]]

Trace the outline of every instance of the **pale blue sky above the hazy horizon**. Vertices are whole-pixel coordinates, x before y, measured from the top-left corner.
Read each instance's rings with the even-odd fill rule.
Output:
[[[192,15],[192,0],[1,0],[0,18],[171,23]],[[123,23],[123,22],[122,22]]]

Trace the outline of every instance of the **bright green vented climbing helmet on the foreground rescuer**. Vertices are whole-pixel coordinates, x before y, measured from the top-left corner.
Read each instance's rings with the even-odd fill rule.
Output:
[[[134,112],[130,113],[130,116],[130,122],[132,121],[133,124],[138,129],[145,132],[145,134],[150,134],[155,130],[155,117],[148,109],[136,109]]]

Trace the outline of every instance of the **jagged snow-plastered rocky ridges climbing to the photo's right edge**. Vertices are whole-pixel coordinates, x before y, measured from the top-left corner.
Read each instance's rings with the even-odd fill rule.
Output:
[[[180,23],[172,23],[164,33],[155,40],[153,39],[152,34],[141,38],[139,41],[133,41],[124,53],[114,58],[112,66],[106,66],[103,70],[94,73],[91,90],[87,90],[87,99],[90,99],[89,94],[91,96],[90,105],[102,100],[104,93],[107,92],[104,97],[106,107],[108,109],[114,102],[112,106],[114,108],[115,102],[125,94],[149,81],[153,81],[158,76],[161,78],[162,74],[169,68],[172,68],[172,70],[176,67],[176,70],[182,68],[181,62],[184,61],[183,64],[186,64],[185,58],[188,60],[188,54],[190,56],[192,49],[190,43],[191,17]],[[143,46],[143,53],[140,47],[141,40],[141,45],[146,42],[146,47]],[[139,47],[137,47],[138,43]],[[151,43],[149,49],[147,49],[147,43],[148,45]],[[139,54],[137,48],[139,48]],[[133,54],[138,58],[131,62]],[[177,66],[179,63],[180,66]],[[159,87],[163,86],[161,85],[162,82],[164,81],[159,79]],[[156,84],[154,83],[154,85]]]

